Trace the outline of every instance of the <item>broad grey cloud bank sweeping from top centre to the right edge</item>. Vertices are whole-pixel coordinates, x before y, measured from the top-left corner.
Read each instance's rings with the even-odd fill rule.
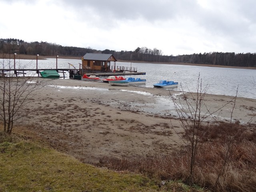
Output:
[[[115,21],[136,20],[142,18],[154,23],[186,18],[193,22],[191,30],[202,28],[211,34],[212,39],[222,36],[234,43],[247,44],[252,35],[250,26],[255,24],[256,12],[254,0],[211,1],[210,8],[203,8],[196,0],[62,0],[64,5],[74,9],[83,9],[82,18],[86,12],[96,14],[98,23],[115,25]],[[185,24],[186,25],[186,24]],[[106,25],[105,27],[108,27]],[[174,26],[175,27],[175,26]],[[242,39],[241,39],[242,38]]]

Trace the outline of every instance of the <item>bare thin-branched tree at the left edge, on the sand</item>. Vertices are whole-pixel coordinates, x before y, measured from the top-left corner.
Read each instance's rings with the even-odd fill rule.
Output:
[[[4,61],[7,61],[6,65]],[[11,134],[14,122],[30,112],[24,110],[24,106],[38,94],[42,86],[39,85],[38,78],[16,77],[16,74],[12,74],[11,60],[3,60],[1,66],[8,67],[8,70],[3,71],[0,78],[0,121],[3,123],[3,131]]]

